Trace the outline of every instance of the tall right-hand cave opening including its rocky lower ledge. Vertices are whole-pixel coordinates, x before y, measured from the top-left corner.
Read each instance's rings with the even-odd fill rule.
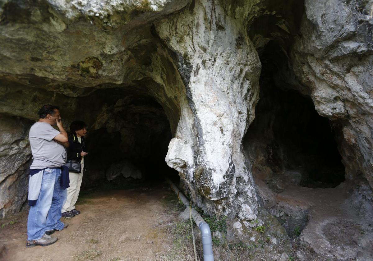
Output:
[[[295,238],[308,225],[306,233],[314,233],[320,220],[338,217],[333,209],[345,208],[345,168],[335,140],[338,125],[317,113],[310,89],[295,75],[302,68],[292,65],[304,2],[265,3],[247,28],[262,68],[243,147],[263,207]]]

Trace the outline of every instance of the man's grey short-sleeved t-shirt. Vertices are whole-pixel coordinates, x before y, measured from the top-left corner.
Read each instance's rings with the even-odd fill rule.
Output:
[[[30,169],[58,168],[66,163],[66,148],[54,141],[61,132],[46,122],[31,126],[29,140],[32,151]]]

